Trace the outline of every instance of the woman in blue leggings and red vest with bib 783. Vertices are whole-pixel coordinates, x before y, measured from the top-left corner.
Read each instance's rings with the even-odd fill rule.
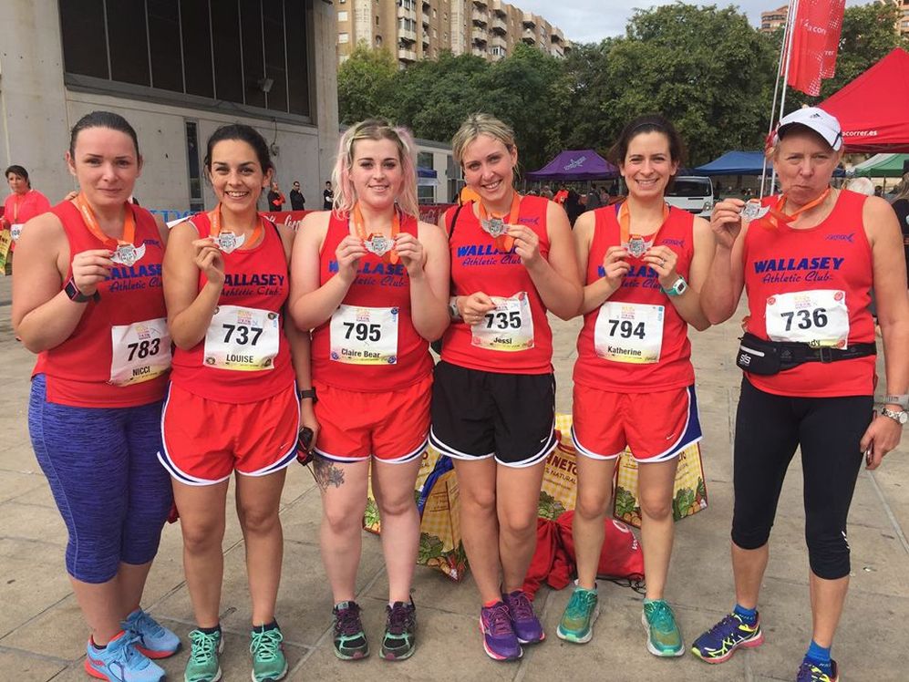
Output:
[[[156,459],[170,369],[168,232],[128,202],[142,157],[121,116],[79,119],[66,159],[81,192],[27,222],[16,252],[13,326],[38,354],[28,430],[67,524],[86,671],[158,682],[164,670],[150,659],[180,648],[140,606],[172,501]]]

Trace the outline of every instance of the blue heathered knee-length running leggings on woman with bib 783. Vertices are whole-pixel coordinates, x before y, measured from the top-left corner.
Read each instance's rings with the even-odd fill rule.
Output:
[[[107,583],[119,564],[158,552],[173,491],[158,461],[161,403],[137,408],[74,408],[46,400],[32,380],[28,431],[69,531],[67,572]]]

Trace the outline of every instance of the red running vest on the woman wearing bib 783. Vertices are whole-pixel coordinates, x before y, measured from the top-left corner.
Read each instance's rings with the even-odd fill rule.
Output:
[[[132,267],[115,264],[108,280],[98,284],[99,300],[78,304],[86,310],[73,333],[59,346],[38,355],[32,376],[46,375],[47,402],[77,408],[133,408],[164,397],[166,373],[128,386],[109,383],[112,327],[167,317],[161,289],[164,249],[158,224],[145,209],[134,204],[127,208],[136,219],[134,243],[145,245],[145,255]],[[51,212],[63,223],[69,242],[68,282],[73,274],[73,256],[108,247],[88,232],[72,202],[58,203]]]

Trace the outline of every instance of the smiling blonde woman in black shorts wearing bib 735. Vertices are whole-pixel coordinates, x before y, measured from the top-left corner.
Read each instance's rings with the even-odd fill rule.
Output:
[[[522,587],[536,547],[542,472],[556,444],[546,314],[577,315],[581,284],[562,207],[514,189],[514,132],[474,114],[451,147],[479,200],[439,220],[449,235],[455,319],[436,366],[429,439],[457,471],[483,648],[511,660],[522,644],[545,637]]]

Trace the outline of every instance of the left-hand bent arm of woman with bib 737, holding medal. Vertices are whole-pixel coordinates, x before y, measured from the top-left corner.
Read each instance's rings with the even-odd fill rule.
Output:
[[[201,290],[200,270],[207,278]],[[198,239],[191,222],[174,225],[164,252],[162,280],[170,338],[178,348],[189,350],[205,338],[221,298],[224,285],[221,252],[211,240]]]

